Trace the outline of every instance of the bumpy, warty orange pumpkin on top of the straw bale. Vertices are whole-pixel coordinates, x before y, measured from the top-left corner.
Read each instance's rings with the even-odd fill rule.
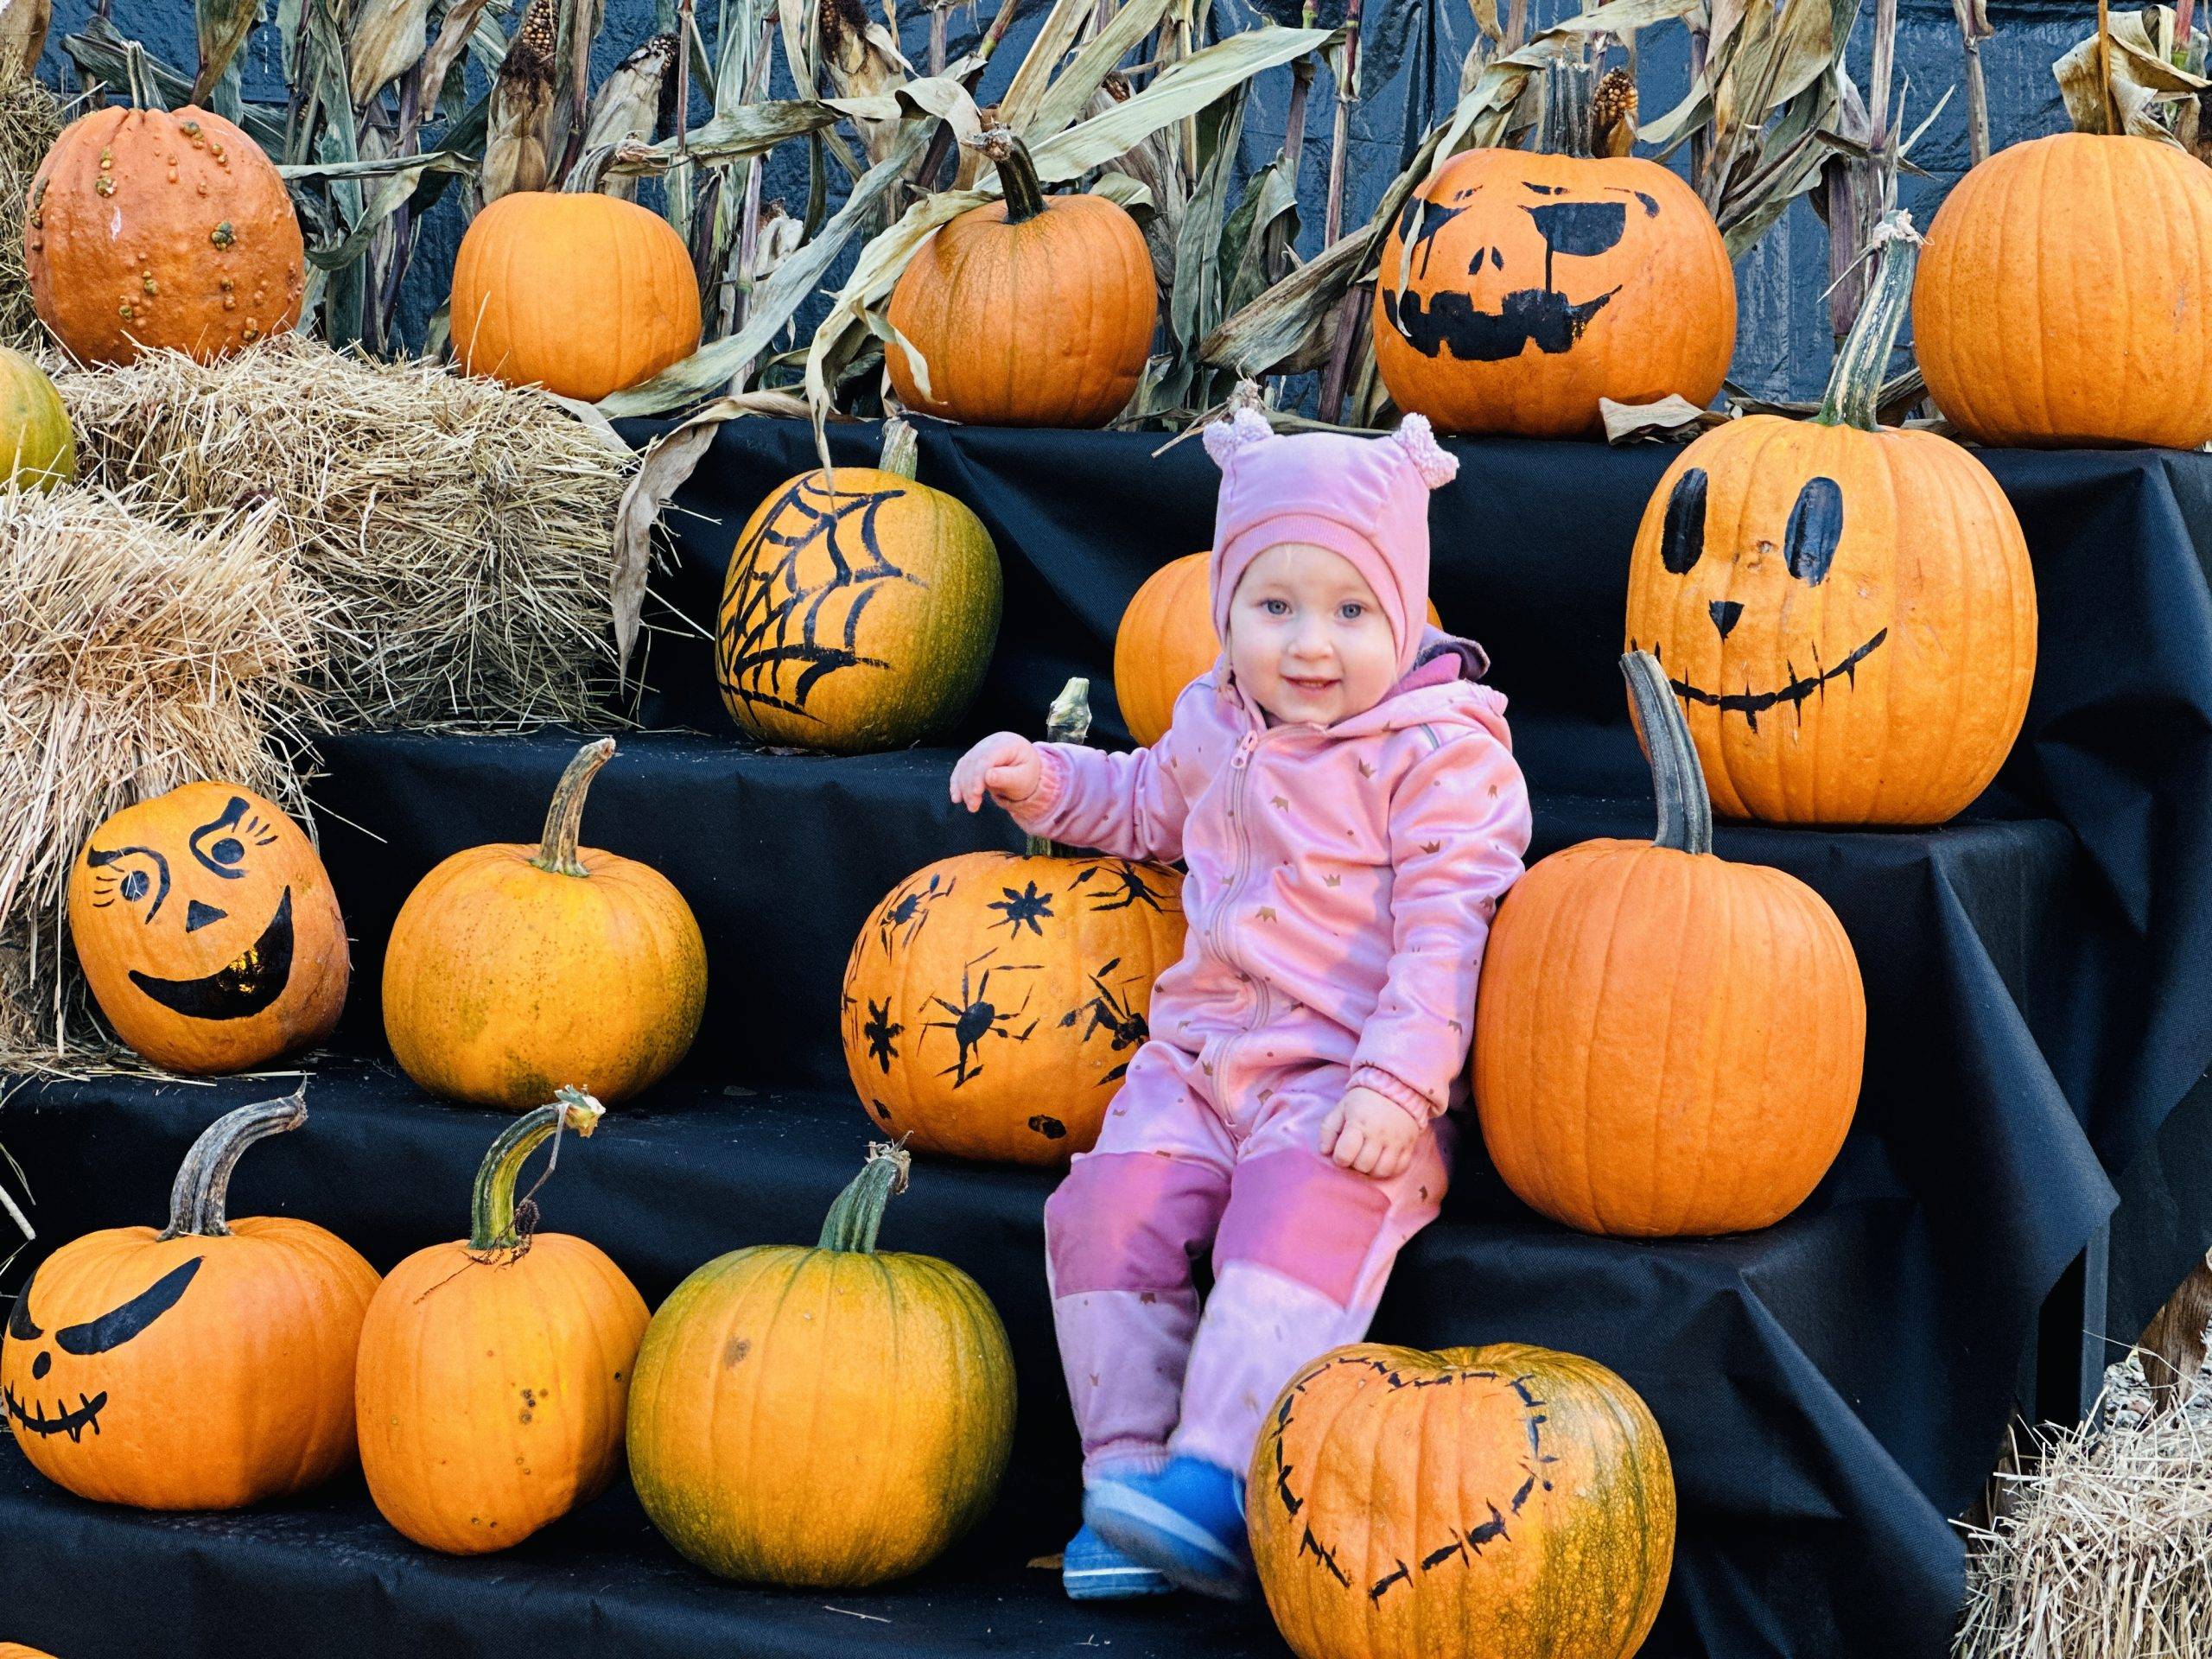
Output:
[[[38,319],[80,363],[212,363],[299,323],[307,250],[261,146],[204,108],[80,115],[31,179]]]

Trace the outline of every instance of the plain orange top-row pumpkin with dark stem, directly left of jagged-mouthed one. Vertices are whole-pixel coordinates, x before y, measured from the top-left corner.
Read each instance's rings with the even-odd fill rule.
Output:
[[[984,133],[1004,201],[931,232],[891,290],[907,352],[885,367],[898,400],[980,427],[1104,427],[1152,354],[1159,294],[1144,232],[1117,201],[1046,197],[1022,139]]]

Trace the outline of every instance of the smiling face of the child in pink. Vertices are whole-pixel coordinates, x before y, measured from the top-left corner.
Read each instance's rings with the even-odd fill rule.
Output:
[[[1374,588],[1312,542],[1270,546],[1230,599],[1230,668],[1279,721],[1334,726],[1383,701],[1398,646]]]

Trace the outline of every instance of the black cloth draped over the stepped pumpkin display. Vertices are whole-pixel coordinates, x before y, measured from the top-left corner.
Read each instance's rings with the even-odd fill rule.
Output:
[[[644,436],[635,431],[633,436]],[[865,460],[874,429],[834,429]],[[967,730],[1037,730],[1086,672],[1115,741],[1113,626],[1141,577],[1208,540],[1194,442],[922,434],[922,478],[984,518],[1006,622]],[[1436,509],[1436,602],[1480,637],[1511,699],[1535,847],[1648,834],[1615,657],[1630,535],[1659,449],[1460,445]],[[650,637],[648,726],[593,787],[588,845],[646,858],[708,936],[710,1006],[684,1073],[562,1157],[546,1225],[602,1243],[648,1301],[708,1256],[812,1239],[869,1126],[836,1051],[836,991],[869,907],[929,858],[1013,845],[945,796],[949,750],[832,761],[739,743],[712,692],[728,549],[810,462],[803,427],[728,427],[679,495],[670,611]],[[1586,1239],[1524,1210],[1467,1135],[1444,1219],[1376,1321],[1418,1345],[1535,1340],[1613,1365],[1650,1400],[1681,1486],[1681,1548],[1652,1655],[1947,1650],[1951,1515],[2002,1436],[2035,1310],[2212,1060],[2203,838],[2212,832],[2212,460],[1991,453],[2042,593],[2028,728],[1966,818],[1929,832],[1723,825],[1721,856],[1827,896],[1865,971],[1867,1082],[1836,1170],[1792,1219],[1717,1241]],[[670,730],[670,728],[695,728]],[[307,1130],[257,1148],[234,1212],[296,1212],[378,1265],[458,1237],[498,1130],[387,1064],[380,940],[440,856],[531,841],[573,737],[345,737],[316,785],[356,991]],[[35,1172],[46,1239],[159,1214],[188,1139],[265,1082],[95,1079],[22,1088],[0,1139]],[[1000,1509],[953,1557],[872,1597],[719,1586],[666,1555],[613,1493],[480,1564],[436,1562],[358,1486],[232,1520],[146,1520],[62,1500],[0,1451],[0,1639],[58,1652],[438,1650],[1276,1652],[1263,1621],[1190,1606],[1079,1613],[1022,1562],[1073,1526],[1075,1449],[1051,1340],[1035,1170],[925,1161],[887,1248],[973,1272],[1015,1340],[1022,1420]],[[2197,1232],[2161,1234],[2179,1279]],[[27,1256],[9,1281],[20,1283]],[[891,1626],[823,1613],[823,1604]],[[312,1626],[303,1608],[312,1606]],[[179,1617],[177,1610],[186,1613]],[[246,1628],[217,1613],[243,1608]],[[195,1617],[199,1615],[199,1617]],[[305,1635],[312,1628],[312,1637]]]

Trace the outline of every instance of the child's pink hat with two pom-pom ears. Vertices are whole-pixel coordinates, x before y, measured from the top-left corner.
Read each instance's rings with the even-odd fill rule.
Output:
[[[1214,507],[1214,633],[1228,639],[1230,599],[1270,546],[1312,542],[1336,553],[1383,602],[1398,672],[1413,666],[1429,604],[1429,491],[1460,471],[1422,416],[1383,438],[1307,431],[1279,438],[1256,409],[1206,429],[1221,467]]]

